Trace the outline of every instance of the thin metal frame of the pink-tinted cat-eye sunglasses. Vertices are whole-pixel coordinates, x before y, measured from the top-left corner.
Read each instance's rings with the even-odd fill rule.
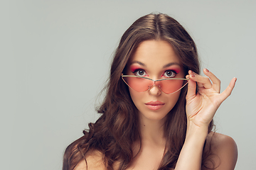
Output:
[[[156,81],[171,80],[171,79],[180,79],[180,80],[187,80],[186,84],[188,84],[188,80],[189,80],[189,79],[183,79],[183,78],[168,78],[168,79],[157,79],[157,80],[154,80],[154,79],[150,79],[150,78],[148,78],[148,77],[139,77],[139,76],[133,76],[133,75],[124,75],[124,74],[122,74],[121,77],[122,77],[122,80],[124,81],[125,84],[127,84],[127,82],[124,80],[123,77],[137,77],[137,78],[142,78],[142,79],[149,79],[149,80],[151,80],[151,81],[154,81],[154,85],[153,85],[153,86],[156,86],[160,91],[162,91],[162,89],[161,89],[161,87],[159,87],[159,86],[157,86],[157,85],[155,84]],[[186,86],[186,84],[183,84],[183,86],[181,86],[181,89],[182,89],[184,86]],[[129,86],[129,84],[127,84],[127,86]],[[149,89],[147,89],[146,91],[149,91],[153,86],[150,86]],[[131,86],[129,86],[129,88],[132,89]],[[181,89],[178,89],[177,91],[180,91]],[[134,89],[133,89],[133,90],[134,90]],[[134,91],[136,91],[136,90],[134,90]],[[171,93],[171,94],[174,94],[174,93],[176,93],[177,91],[174,91],[174,92]],[[137,91],[137,92],[144,92],[144,91]],[[162,91],[162,92],[163,92],[164,94],[166,94],[164,91]]]

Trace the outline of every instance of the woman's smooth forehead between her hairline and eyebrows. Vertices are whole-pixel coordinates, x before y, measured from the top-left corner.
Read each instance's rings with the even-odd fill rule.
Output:
[[[146,40],[139,44],[129,63],[142,62],[149,67],[164,66],[170,62],[180,64],[174,48],[164,40]]]

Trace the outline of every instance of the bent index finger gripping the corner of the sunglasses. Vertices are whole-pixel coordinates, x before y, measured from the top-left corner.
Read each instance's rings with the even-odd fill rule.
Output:
[[[189,74],[189,79],[196,81],[198,83],[198,87],[204,87],[205,89],[210,89],[212,87],[212,84],[208,77],[202,77],[201,75],[196,74],[191,70],[188,71],[188,74]]]

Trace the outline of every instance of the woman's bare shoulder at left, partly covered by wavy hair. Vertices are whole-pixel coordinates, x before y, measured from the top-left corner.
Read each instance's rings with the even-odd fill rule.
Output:
[[[75,166],[74,170],[106,170],[106,166],[103,163],[103,155],[101,152],[97,150],[93,150],[87,152],[85,155],[85,160],[82,160],[77,166]]]

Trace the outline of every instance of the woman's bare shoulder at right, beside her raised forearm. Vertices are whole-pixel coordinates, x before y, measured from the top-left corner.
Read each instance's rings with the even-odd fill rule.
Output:
[[[206,142],[210,142],[210,159],[214,162],[216,170],[233,170],[238,159],[238,147],[235,140],[218,132],[210,132]]]

